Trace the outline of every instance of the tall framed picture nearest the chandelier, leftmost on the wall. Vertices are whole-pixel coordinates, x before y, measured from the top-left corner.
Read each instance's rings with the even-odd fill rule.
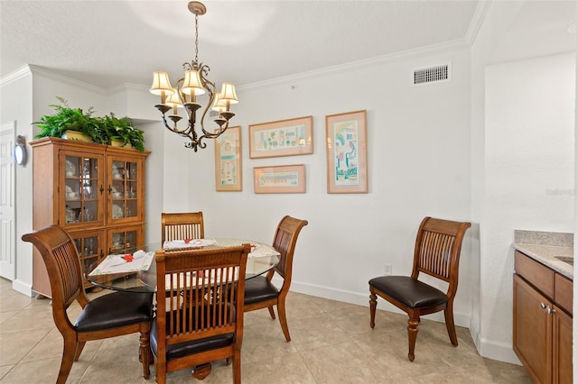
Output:
[[[228,127],[215,139],[215,187],[218,191],[243,189],[241,127]]]

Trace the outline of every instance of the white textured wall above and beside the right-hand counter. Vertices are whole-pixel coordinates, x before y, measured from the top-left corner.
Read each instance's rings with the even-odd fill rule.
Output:
[[[481,337],[511,347],[515,229],[573,232],[573,53],[489,66]]]

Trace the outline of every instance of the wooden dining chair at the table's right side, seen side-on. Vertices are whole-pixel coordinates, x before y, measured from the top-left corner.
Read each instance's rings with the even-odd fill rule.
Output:
[[[289,327],[287,326],[287,315],[285,311],[285,297],[289,293],[291,286],[291,277],[293,272],[293,256],[297,237],[305,225],[309,224],[307,220],[296,219],[291,216],[284,216],[277,225],[275,236],[273,238],[273,247],[281,253],[281,260],[272,269],[267,272],[266,276],[256,276],[248,279],[245,284],[245,312],[255,311],[256,309],[268,308],[269,315],[275,320],[273,306],[277,306],[279,323],[287,342],[291,341]],[[281,288],[277,288],[271,282],[275,273],[283,278]]]

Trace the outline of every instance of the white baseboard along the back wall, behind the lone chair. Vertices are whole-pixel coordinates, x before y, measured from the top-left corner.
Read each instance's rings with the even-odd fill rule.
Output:
[[[273,281],[275,282],[275,279],[273,279]],[[281,280],[279,279],[279,281]],[[328,288],[314,284],[293,281],[291,283],[291,290],[297,293],[303,293],[305,295],[329,298],[331,300],[342,301],[344,303],[350,304],[357,304],[359,306],[369,306],[369,289],[367,292],[359,293],[359,292],[351,292],[344,289]],[[378,301],[378,309],[388,312],[394,312],[396,314],[405,314],[405,312],[397,309],[396,306],[387,303],[387,301],[385,300]],[[432,315],[425,315],[424,318],[437,321],[440,323],[445,322],[445,319],[443,318],[443,312],[438,312]],[[465,328],[470,327],[470,315],[454,311],[453,321],[455,325],[462,326]]]

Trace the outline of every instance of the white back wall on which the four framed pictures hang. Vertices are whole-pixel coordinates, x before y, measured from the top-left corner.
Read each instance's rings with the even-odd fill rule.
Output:
[[[412,69],[449,61],[452,81],[410,85]],[[347,87],[344,78],[350,79]],[[233,123],[242,126],[243,191],[216,192],[213,149],[191,152],[189,206],[204,212],[206,234],[215,237],[270,242],[283,215],[309,220],[297,245],[292,288],[366,306],[368,279],[380,275],[384,263],[395,274],[410,272],[415,232],[425,215],[470,220],[469,94],[468,50],[241,87]],[[328,195],[324,117],[359,109],[368,111],[369,193]],[[250,123],[304,115],[313,116],[312,155],[249,159]],[[254,194],[254,167],[301,163],[306,194]],[[470,262],[466,251],[455,305],[465,326]],[[378,307],[393,309],[384,302]]]

